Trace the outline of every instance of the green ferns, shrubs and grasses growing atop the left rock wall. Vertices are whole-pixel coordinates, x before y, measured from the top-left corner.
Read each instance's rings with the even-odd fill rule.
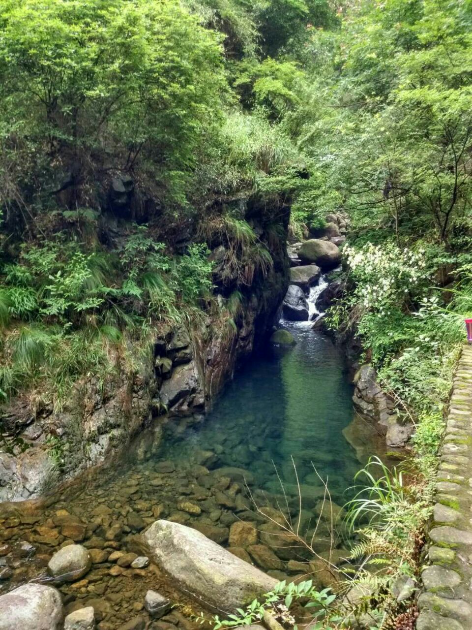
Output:
[[[149,321],[181,321],[182,307],[189,316],[212,288],[205,245],[172,259],[145,226],[115,253],[82,249],[59,234],[25,244],[18,263],[4,265],[3,399],[41,384],[60,406],[82,375],[104,380],[113,373],[113,353],[126,352],[125,333],[139,347]]]

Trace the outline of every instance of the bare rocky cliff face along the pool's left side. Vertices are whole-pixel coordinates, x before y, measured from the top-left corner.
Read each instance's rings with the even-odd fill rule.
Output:
[[[111,455],[116,458],[157,416],[204,413],[235,369],[266,339],[288,287],[289,209],[249,199],[238,204],[273,264],[252,270],[237,312],[229,319],[209,311],[198,324],[162,326],[154,350],[132,372],[121,370],[104,382],[96,376],[76,382],[60,413],[49,404],[33,408],[31,397],[11,400],[3,410],[3,426],[18,439],[13,449],[0,445],[0,501],[35,498]],[[190,224],[185,230],[184,241],[191,243],[194,228]],[[224,245],[210,247],[216,260],[216,299],[223,301],[236,278],[225,269]]]

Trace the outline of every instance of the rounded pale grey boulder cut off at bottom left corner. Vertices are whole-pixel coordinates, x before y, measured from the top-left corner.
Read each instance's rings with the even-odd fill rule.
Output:
[[[55,588],[29,583],[0,597],[0,630],[59,630],[62,601]]]

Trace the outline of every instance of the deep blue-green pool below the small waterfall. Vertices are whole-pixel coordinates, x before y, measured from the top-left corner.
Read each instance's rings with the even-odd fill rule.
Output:
[[[342,350],[305,323],[284,321],[283,327],[295,336],[296,346],[254,357],[202,425],[167,435],[166,459],[188,462],[200,450],[210,450],[215,455],[209,467],[247,469],[256,486],[269,493],[281,492],[279,476],[288,494],[296,495],[293,457],[302,494],[323,491],[316,468],[334,500],[342,501],[359,469],[342,434],[353,416]]]

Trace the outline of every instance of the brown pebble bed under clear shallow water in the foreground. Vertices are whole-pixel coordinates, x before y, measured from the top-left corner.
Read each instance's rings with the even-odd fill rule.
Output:
[[[314,578],[320,587],[337,579],[335,565],[347,555],[340,536],[331,535],[331,510],[319,493],[308,497],[300,516],[300,532],[328,565],[312,557],[280,524],[278,505],[283,495],[269,495],[256,487],[250,471],[215,467],[212,452],[194,453],[186,467],[176,462],[149,461],[123,476],[110,472],[100,485],[82,479],[42,503],[0,505],[0,594],[27,581],[50,583],[47,564],[53,553],[69,544],[81,544],[92,559],[91,570],[79,580],[59,585],[65,612],[92,606],[99,630],[132,630],[143,622],[152,630],[189,630],[192,604],[178,592],[159,568],[149,563],[136,567],[146,555],[140,532],[159,518],[194,527],[232,553],[278,579]],[[287,496],[286,517],[298,521],[298,497]],[[259,512],[258,508],[261,510]],[[334,515],[342,510],[334,505]],[[318,518],[319,517],[319,518]],[[144,563],[146,564],[146,563]],[[176,608],[152,621],[144,608],[149,589],[168,597]],[[134,620],[135,626],[130,625]]]

